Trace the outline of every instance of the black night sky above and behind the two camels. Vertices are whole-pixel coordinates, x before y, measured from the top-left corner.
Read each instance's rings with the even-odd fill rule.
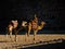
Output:
[[[37,14],[47,24],[43,30],[65,30],[64,0],[9,0],[0,7],[0,33],[11,20],[29,21]]]

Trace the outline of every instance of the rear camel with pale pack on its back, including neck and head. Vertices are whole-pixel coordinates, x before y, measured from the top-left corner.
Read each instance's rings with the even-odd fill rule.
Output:
[[[26,27],[26,24],[27,22],[23,21],[23,24],[22,26]],[[17,21],[11,21],[6,27],[6,30],[8,30],[8,34],[10,34],[10,38],[11,38],[11,41],[12,41],[12,33],[14,32],[15,34],[15,41],[17,41],[17,33],[20,30],[22,30],[24,27],[20,27],[18,29],[16,29],[18,26],[18,22]],[[6,39],[8,39],[8,34],[6,34]]]

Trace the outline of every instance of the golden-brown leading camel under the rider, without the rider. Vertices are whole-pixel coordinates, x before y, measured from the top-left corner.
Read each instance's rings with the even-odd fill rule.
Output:
[[[34,32],[34,40],[36,41],[36,35],[37,35],[38,30],[42,29],[46,23],[41,22],[40,25],[36,25],[36,23],[34,23],[34,24],[32,23],[29,23],[29,25],[28,25],[27,36],[29,37],[29,34],[32,30]]]

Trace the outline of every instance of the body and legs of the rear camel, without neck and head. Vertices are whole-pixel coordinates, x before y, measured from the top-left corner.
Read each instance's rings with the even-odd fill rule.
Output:
[[[14,29],[14,34],[15,34],[15,41],[16,41],[16,27],[17,27],[18,23],[17,21],[11,21],[6,27],[8,34],[10,34],[10,38],[12,40],[12,32]],[[8,38],[8,34],[6,34],[6,38]]]

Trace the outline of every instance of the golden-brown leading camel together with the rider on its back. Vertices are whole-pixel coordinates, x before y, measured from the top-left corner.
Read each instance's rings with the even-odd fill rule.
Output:
[[[38,30],[43,28],[44,24],[46,24],[46,22],[42,21],[40,23],[40,25],[38,25],[38,17],[35,14],[35,19],[31,22],[29,22],[29,24],[28,24],[28,33],[27,33],[28,36],[30,34],[30,30],[32,30],[34,32],[34,40],[36,41],[36,35],[37,35]]]

